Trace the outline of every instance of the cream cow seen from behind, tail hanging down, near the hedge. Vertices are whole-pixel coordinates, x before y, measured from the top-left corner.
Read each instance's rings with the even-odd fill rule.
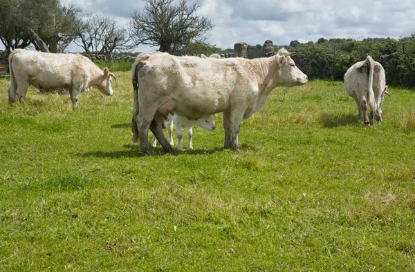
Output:
[[[374,115],[378,121],[382,121],[380,105],[385,94],[389,95],[385,81],[385,70],[370,56],[353,64],[344,74],[347,93],[356,101],[359,118],[363,119],[367,126],[374,124]],[[367,117],[367,104],[371,110],[370,119]]]

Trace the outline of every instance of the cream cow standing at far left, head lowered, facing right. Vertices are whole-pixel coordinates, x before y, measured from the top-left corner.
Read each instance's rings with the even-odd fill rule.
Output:
[[[9,56],[10,103],[24,101],[28,86],[39,90],[68,88],[72,106],[77,107],[81,92],[92,87],[98,88],[104,95],[112,95],[111,77],[116,79],[108,68],[101,70],[93,62],[79,54],[52,54],[23,49],[14,50]]]

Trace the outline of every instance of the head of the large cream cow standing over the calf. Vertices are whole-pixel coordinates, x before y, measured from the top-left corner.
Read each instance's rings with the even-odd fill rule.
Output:
[[[279,50],[275,56],[277,68],[277,86],[299,86],[306,84],[308,77],[295,66],[295,62],[291,59],[293,53],[287,50]]]

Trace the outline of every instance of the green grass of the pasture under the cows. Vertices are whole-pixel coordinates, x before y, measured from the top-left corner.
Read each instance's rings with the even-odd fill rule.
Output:
[[[277,88],[239,154],[219,115],[194,150],[145,156],[116,76],[75,111],[34,89],[9,105],[0,80],[2,271],[415,270],[413,90],[368,128],[342,82]]]

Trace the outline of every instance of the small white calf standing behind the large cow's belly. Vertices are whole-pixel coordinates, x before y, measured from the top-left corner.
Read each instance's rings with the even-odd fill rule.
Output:
[[[173,142],[173,124],[176,126],[176,136],[177,136],[177,149],[183,150],[181,141],[183,138],[183,132],[182,128],[186,128],[187,131],[187,148],[192,149],[192,135],[193,135],[193,126],[199,126],[205,130],[213,131],[216,129],[216,126],[214,126],[212,117],[210,115],[201,117],[196,120],[189,120],[184,116],[180,115],[171,115],[169,114],[169,117],[167,118],[167,132],[169,133],[169,144],[172,146],[174,145]],[[151,146],[156,147],[156,137],[153,135],[153,139],[151,140]]]

